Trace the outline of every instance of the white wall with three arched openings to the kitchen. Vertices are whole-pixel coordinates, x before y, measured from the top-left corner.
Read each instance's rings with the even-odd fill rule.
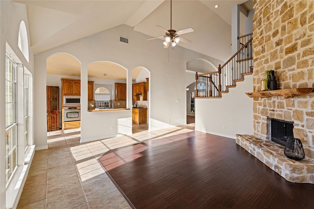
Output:
[[[129,45],[119,43],[119,37],[129,38]],[[40,78],[36,89],[46,89],[46,59],[53,53],[66,52],[81,63],[81,141],[105,139],[131,133],[131,110],[91,113],[87,110],[87,66],[97,61],[114,62],[127,69],[127,107],[131,108],[132,69],[144,67],[150,71],[150,128],[186,124],[186,62],[195,58],[212,58],[180,46],[164,49],[161,40],[146,41],[148,36],[127,25],[97,33],[78,41],[53,48],[35,56],[35,70]],[[46,95],[43,92],[42,95]],[[36,100],[40,119],[36,127],[46,130],[46,100]],[[113,126],[113,130],[111,127]],[[38,131],[42,142],[46,133]],[[39,139],[39,137],[38,137]],[[36,141],[37,142],[37,141]],[[42,143],[39,142],[39,143]],[[47,142],[46,142],[47,143]]]

